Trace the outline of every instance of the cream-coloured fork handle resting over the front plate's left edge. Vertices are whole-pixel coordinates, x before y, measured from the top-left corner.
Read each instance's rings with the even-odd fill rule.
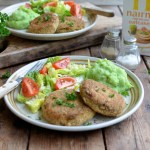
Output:
[[[9,81],[0,87],[0,99],[18,86],[17,81]]]

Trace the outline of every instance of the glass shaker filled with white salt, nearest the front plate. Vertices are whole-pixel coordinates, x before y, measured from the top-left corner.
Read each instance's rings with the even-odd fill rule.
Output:
[[[116,62],[131,71],[134,71],[141,62],[136,38],[127,36],[124,38],[122,49],[116,58]]]

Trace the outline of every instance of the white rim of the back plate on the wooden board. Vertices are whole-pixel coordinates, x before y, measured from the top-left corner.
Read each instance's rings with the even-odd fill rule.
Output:
[[[12,7],[17,7],[17,6],[23,5],[27,2],[29,2],[29,1],[10,5],[8,7],[5,7],[4,9],[2,9],[1,12],[7,13],[8,9],[11,9]],[[28,33],[28,32],[24,33],[24,32],[20,32],[20,30],[17,30],[17,29],[13,29],[13,28],[9,28],[9,27],[7,27],[7,28],[11,31],[12,34],[17,35],[17,36],[24,36],[24,38],[35,39],[35,40],[50,40],[51,41],[52,40],[51,38],[54,38],[53,40],[59,40],[59,38],[60,38],[60,40],[62,40],[62,39],[66,39],[66,38],[68,39],[68,38],[72,38],[72,37],[76,37],[78,35],[84,34],[86,31],[89,31],[91,28],[93,28],[95,26],[96,21],[97,21],[97,15],[96,15],[94,22],[92,22],[89,26],[87,26],[81,30],[67,32],[67,33],[57,33],[57,34],[34,34],[34,33]]]

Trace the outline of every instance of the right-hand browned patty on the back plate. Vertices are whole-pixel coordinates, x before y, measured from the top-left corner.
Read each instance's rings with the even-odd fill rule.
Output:
[[[60,23],[56,30],[56,33],[65,33],[65,32],[71,32],[76,31],[84,28],[85,23],[82,19],[77,18],[75,16],[71,17],[60,17]]]

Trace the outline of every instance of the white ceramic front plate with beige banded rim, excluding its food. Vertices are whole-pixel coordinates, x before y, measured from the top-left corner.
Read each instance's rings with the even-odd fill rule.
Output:
[[[69,56],[69,57],[71,58],[71,61],[74,61],[75,63],[79,63],[79,64],[86,64],[87,59],[90,59],[91,63],[94,63],[96,60],[98,60],[98,58],[87,57],[87,56]],[[40,61],[44,63],[46,59],[42,59]],[[9,82],[10,80],[14,80],[16,78],[16,75],[18,75],[20,72],[29,70],[35,63],[36,62],[30,63],[17,70],[13,75],[11,75],[11,77],[8,79],[7,82]],[[49,124],[44,119],[42,119],[40,112],[36,114],[32,114],[25,108],[24,104],[17,102],[16,95],[19,92],[19,87],[5,96],[5,102],[8,108],[19,118],[31,124],[34,124],[36,126],[40,126],[47,129],[60,130],[60,131],[88,131],[88,130],[95,130],[95,129],[108,127],[118,122],[121,122],[127,117],[129,117],[130,115],[132,115],[140,107],[143,101],[144,89],[142,83],[140,82],[140,80],[135,74],[133,74],[131,71],[127,69],[125,70],[128,74],[130,82],[134,85],[134,87],[131,88],[130,90],[130,96],[127,96],[125,98],[127,105],[123,114],[116,118],[104,117],[97,114],[92,120],[90,120],[92,124],[89,126],[85,126],[85,125],[60,126],[60,125]]]

